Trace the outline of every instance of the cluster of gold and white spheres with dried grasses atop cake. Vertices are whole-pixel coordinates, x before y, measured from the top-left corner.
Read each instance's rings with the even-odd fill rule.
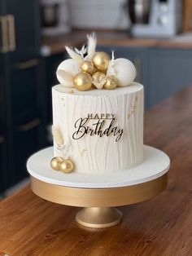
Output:
[[[115,59],[105,52],[95,51],[96,34],[87,35],[87,46],[81,50],[65,46],[71,59],[64,60],[57,69],[59,82],[77,90],[107,89],[129,86],[136,77],[136,68],[130,60]]]

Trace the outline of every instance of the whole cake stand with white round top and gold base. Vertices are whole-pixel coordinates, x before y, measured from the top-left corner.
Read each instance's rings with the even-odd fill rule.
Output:
[[[84,207],[76,222],[85,227],[111,227],[122,213],[115,207],[146,201],[167,186],[169,158],[156,148],[144,146],[144,160],[130,170],[111,174],[63,174],[50,168],[53,148],[28,159],[31,188],[37,196],[62,205]]]

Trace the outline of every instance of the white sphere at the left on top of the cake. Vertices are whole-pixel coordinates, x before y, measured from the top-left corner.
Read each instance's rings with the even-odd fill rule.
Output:
[[[64,60],[61,64],[59,64],[57,70],[64,70],[70,73],[73,77],[80,72],[79,65],[76,64],[76,62],[72,59]],[[56,75],[60,84],[67,87],[73,87],[72,82],[65,81],[63,77],[59,75],[59,73],[56,73]]]

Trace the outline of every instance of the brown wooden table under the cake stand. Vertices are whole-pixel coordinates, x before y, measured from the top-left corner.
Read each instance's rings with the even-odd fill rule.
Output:
[[[192,255],[192,86],[145,122],[145,143],[171,158],[165,192],[120,207],[120,225],[93,230],[75,222],[77,208],[42,200],[28,186],[0,203],[0,255]]]

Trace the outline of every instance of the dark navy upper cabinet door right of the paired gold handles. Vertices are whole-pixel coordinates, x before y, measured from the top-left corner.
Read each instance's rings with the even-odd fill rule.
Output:
[[[6,0],[11,64],[29,60],[40,51],[40,7],[37,0]]]

